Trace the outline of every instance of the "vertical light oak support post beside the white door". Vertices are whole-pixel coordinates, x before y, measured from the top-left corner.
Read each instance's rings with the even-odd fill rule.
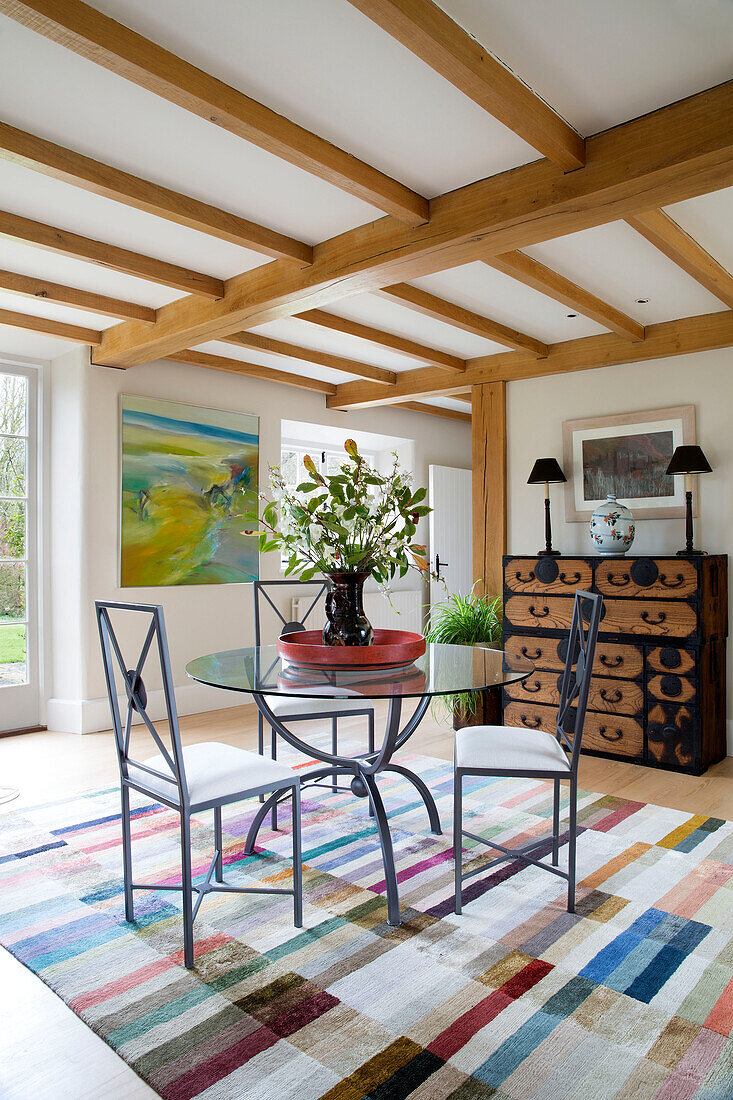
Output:
[[[506,383],[471,387],[473,578],[488,595],[502,592],[506,553]]]

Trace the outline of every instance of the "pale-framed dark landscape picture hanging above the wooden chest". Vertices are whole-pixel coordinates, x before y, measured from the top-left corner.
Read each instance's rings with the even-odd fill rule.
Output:
[[[694,441],[694,405],[566,420],[566,519],[589,519],[610,494],[635,519],[682,517],[682,480],[665,471],[675,448]]]

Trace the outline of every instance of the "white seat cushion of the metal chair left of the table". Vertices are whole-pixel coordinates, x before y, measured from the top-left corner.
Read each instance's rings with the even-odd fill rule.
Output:
[[[216,802],[240,791],[251,791],[278,781],[285,784],[296,778],[296,772],[292,768],[277,760],[238,749],[234,745],[222,745],[220,741],[187,745],[183,756],[192,805]],[[142,763],[166,776],[173,776],[162,756],[151,757]],[[132,763],[128,768],[128,776],[149,791],[172,802],[178,801],[178,788],[173,783],[166,783],[165,780],[157,779]]]

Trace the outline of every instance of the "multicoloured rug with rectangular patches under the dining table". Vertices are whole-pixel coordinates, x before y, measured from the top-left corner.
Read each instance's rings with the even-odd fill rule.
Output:
[[[450,766],[405,759],[448,831]],[[188,972],[177,894],[136,894],[124,922],[103,790],[0,817],[0,942],[166,1100],[733,1097],[733,823],[583,793],[576,915],[560,880],[506,864],[470,880],[456,917],[449,833],[427,831],[403,779],[380,785],[398,930],[365,804],[308,792],[306,927],[287,898],[209,895]],[[287,820],[240,858],[251,813],[225,811],[228,877],[286,881]],[[550,788],[474,780],[467,814],[516,844],[547,829]],[[175,882],[176,815],[141,801],[133,829],[135,876]],[[201,873],[211,840],[203,820]]]

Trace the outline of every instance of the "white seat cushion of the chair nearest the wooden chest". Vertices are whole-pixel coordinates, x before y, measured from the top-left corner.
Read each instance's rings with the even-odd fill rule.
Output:
[[[456,767],[501,771],[570,771],[559,741],[522,726],[466,726],[456,734]]]

